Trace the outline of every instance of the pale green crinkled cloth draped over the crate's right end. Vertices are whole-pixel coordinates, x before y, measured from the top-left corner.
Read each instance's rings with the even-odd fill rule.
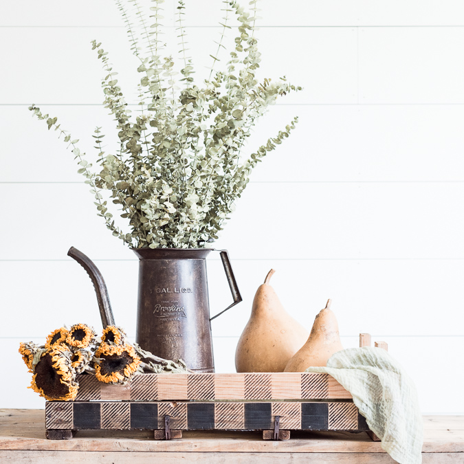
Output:
[[[342,384],[395,461],[422,462],[423,421],[416,389],[386,350],[364,346],[338,351],[327,367],[306,372],[328,373]]]

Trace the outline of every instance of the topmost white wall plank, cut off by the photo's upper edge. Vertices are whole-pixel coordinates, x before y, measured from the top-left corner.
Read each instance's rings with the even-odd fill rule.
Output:
[[[140,2],[142,5],[143,2]],[[173,25],[175,2],[164,3],[164,24]],[[247,2],[241,2],[248,7]],[[82,0],[63,3],[48,0],[17,0],[0,10],[0,25],[10,26],[85,26],[120,25],[113,1]],[[286,3],[266,0],[261,9],[259,25],[332,26],[332,25],[463,25],[464,13],[458,0],[426,0],[376,2],[369,0],[300,0]],[[186,23],[193,26],[217,25],[223,16],[220,0],[186,2]]]

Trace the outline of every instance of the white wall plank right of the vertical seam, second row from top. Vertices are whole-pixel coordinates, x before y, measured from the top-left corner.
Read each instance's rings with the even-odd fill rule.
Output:
[[[464,102],[464,28],[361,28],[359,34],[360,102]]]

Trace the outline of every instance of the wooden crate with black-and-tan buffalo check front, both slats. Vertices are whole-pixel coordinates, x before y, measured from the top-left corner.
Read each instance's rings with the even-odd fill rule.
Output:
[[[368,430],[351,395],[319,373],[78,375],[75,401],[47,401],[52,430]],[[289,434],[288,434],[289,436]],[[166,435],[168,437],[168,435]]]

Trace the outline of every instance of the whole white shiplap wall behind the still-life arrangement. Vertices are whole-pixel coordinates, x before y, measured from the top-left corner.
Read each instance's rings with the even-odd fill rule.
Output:
[[[221,2],[186,3],[201,77]],[[356,346],[360,331],[385,340],[415,379],[423,412],[464,414],[464,6],[261,3],[261,76],[285,74],[305,91],[280,100],[248,144],[300,116],[256,168],[217,243],[230,250],[244,296],[213,323],[217,371],[234,371],[254,291],[274,267],[274,288],[308,329],[332,298],[345,346]],[[171,45],[175,4],[165,5]],[[88,152],[96,125],[114,135],[89,41],[102,41],[123,89],[135,89],[121,25],[110,0],[0,4],[0,352],[8,373],[0,408],[43,407],[26,389],[20,341],[39,342],[63,323],[100,326],[91,283],[66,256],[70,245],[96,261],[116,320],[135,335],[137,261],[96,217],[63,142],[27,111],[36,102],[57,115]],[[126,95],[136,102],[135,91]],[[219,259],[209,266],[214,313],[230,296]]]

